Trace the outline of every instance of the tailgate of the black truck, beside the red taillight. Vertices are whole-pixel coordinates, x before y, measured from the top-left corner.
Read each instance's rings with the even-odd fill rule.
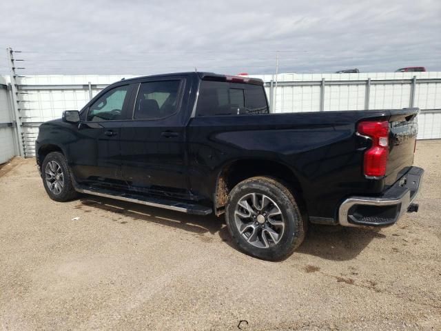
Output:
[[[385,184],[392,185],[413,165],[418,108],[392,110],[389,119],[389,156]]]

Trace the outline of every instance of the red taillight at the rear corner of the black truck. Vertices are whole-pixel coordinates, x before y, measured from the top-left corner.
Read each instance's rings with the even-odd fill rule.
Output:
[[[389,122],[365,121],[358,123],[358,133],[372,139],[372,147],[365,152],[364,170],[369,177],[382,177],[386,174],[389,154]]]

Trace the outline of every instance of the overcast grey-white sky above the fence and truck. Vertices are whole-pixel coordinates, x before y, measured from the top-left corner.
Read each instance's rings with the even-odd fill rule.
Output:
[[[0,4],[0,74],[441,71],[440,0]]]

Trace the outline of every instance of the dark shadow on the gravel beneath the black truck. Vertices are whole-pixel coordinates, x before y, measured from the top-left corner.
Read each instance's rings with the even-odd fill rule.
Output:
[[[122,224],[127,223],[128,218],[129,220],[147,221],[199,235],[217,234],[227,245],[238,249],[229,235],[223,216],[209,215],[203,217],[103,197],[82,197],[79,204],[74,208],[83,212],[92,212],[92,210],[98,208],[110,212],[109,219]],[[322,259],[347,261],[357,257],[373,239],[385,237],[378,229],[311,224],[305,241],[294,252],[294,256],[295,254],[309,254]]]

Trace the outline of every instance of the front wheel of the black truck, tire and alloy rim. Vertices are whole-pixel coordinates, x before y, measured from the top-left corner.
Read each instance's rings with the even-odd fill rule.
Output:
[[[41,177],[50,199],[64,202],[78,197],[68,163],[60,152],[50,152],[46,155],[41,166]]]

